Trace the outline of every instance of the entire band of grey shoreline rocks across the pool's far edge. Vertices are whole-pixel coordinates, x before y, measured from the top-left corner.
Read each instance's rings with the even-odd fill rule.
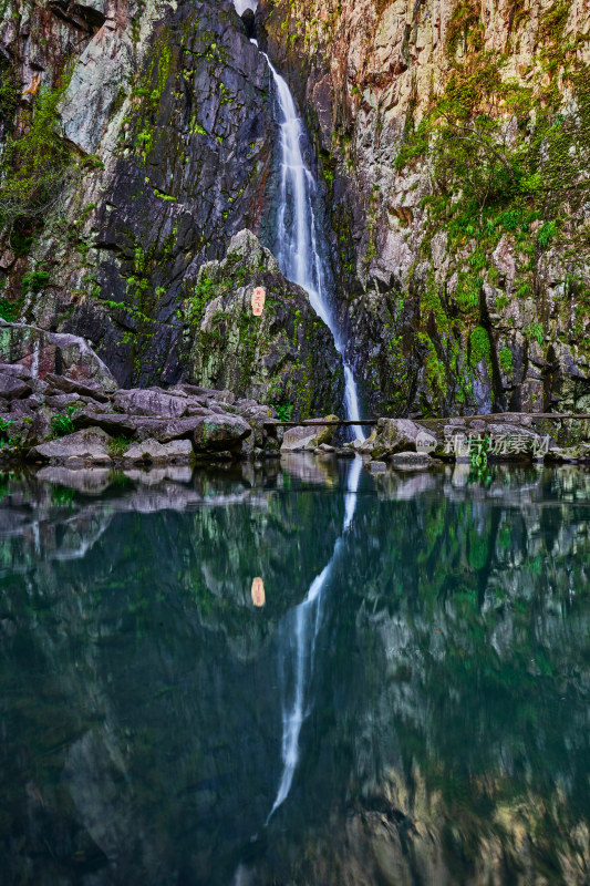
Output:
[[[362,455],[372,471],[386,462],[424,468],[437,459],[590,462],[583,418],[474,415],[380,419],[363,441],[334,444],[335,415],[284,432],[272,408],[229,390],[179,383],[121,389],[76,336],[0,321],[0,460],[66,466],[132,467],[273,457],[312,451]]]

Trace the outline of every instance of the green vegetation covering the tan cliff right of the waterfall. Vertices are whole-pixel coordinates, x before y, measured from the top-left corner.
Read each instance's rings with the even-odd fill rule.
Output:
[[[412,116],[406,120],[396,168],[402,172],[416,159],[426,161],[432,183],[431,194],[422,200],[426,226],[421,251],[432,261],[432,239],[444,230],[452,259],[446,279],[438,282],[439,297],[425,291],[422,298],[423,329],[427,332],[432,316],[437,339],[433,343],[446,367],[443,383],[438,391],[433,390],[439,408],[448,399],[453,378],[459,379],[454,396],[459,402],[468,398],[470,368],[479,360],[488,365],[493,400],[504,401],[498,370],[510,377],[513,353],[504,344],[497,354],[494,337],[486,331],[489,310],[504,307],[501,296],[488,303],[497,286],[490,257],[503,238],[506,248],[518,256],[517,299],[539,298],[541,258],[551,245],[558,245],[567,255],[569,279],[576,286],[578,322],[588,311],[590,289],[582,282],[587,262],[583,230],[572,230],[568,219],[590,193],[586,175],[590,86],[584,69],[576,61],[581,38],[563,37],[567,11],[568,4],[560,3],[542,17],[547,45],[532,85],[522,85],[505,74],[509,48],[500,53],[485,49],[478,4],[457,3],[447,35],[451,74],[446,86],[441,95],[432,96],[417,125]],[[447,292],[453,275],[456,284],[449,300],[443,291]],[[462,330],[457,337],[453,321],[458,316]],[[470,354],[457,377],[464,330]],[[547,316],[541,310],[524,334],[542,346],[546,331]],[[583,346],[583,326],[579,337]]]

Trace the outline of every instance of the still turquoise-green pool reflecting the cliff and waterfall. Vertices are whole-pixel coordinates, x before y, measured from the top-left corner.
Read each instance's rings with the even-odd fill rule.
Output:
[[[0,883],[587,883],[590,472],[495,471],[4,475]]]

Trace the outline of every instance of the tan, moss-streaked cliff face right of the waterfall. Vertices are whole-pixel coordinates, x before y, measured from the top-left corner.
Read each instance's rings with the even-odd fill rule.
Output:
[[[379,412],[587,410],[583,0],[263,0]]]

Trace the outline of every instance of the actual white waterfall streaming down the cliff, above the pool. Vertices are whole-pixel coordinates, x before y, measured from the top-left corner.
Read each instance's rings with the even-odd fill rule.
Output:
[[[268,55],[268,62],[277,90],[281,113],[281,190],[277,225],[277,260],[284,276],[299,284],[309,295],[310,305],[334,339],[337,351],[344,364],[344,408],[346,419],[359,421],[359,393],[352,368],[346,362],[345,347],[330,306],[325,275],[319,249],[319,227],[313,208],[317,183],[306,164],[301,144],[304,138],[303,124],[297,113],[293,96],[287,81],[278,73]],[[353,425],[353,434],[364,440],[360,424]]]

